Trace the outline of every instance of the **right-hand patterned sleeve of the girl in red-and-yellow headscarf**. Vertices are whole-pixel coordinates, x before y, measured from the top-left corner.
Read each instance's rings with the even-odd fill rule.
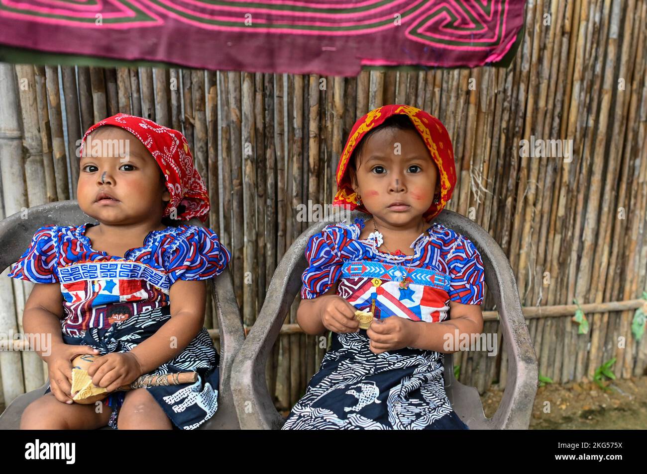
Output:
[[[474,247],[474,243],[458,236],[448,256],[447,267],[451,278],[448,292],[451,300],[462,304],[481,304],[485,271],[481,254]]]

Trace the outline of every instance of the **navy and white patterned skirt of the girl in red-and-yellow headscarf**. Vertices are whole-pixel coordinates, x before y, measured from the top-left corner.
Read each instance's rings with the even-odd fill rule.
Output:
[[[331,350],[283,429],[468,429],[444,391],[443,355],[374,354],[366,331],[333,333]]]

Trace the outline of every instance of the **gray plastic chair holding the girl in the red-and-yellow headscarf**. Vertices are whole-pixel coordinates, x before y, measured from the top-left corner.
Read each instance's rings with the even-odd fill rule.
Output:
[[[369,218],[354,211],[356,217]],[[485,282],[499,311],[499,321],[508,353],[508,379],[501,405],[492,418],[485,418],[481,398],[475,387],[454,378],[452,355],[444,355],[444,383],[455,412],[470,429],[527,429],[537,391],[537,358],[528,328],[521,313],[519,293],[505,254],[482,227],[451,211],[443,211],[435,222],[463,234],[481,253]],[[265,364],[279,336],[285,314],[301,289],[301,276],[307,262],[304,252],[309,238],[329,222],[320,222],[303,232],[279,263],[265,304],[247,335],[232,368],[232,390],[243,429],[280,429],[285,422],[272,403],[265,382]]]

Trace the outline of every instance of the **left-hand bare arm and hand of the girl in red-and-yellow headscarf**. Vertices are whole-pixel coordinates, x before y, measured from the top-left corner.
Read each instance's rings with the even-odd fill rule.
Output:
[[[335,283],[326,293],[309,300],[301,300],[296,311],[296,322],[303,332],[322,335],[325,331],[355,333],[359,322],[355,320],[355,307],[336,294]]]

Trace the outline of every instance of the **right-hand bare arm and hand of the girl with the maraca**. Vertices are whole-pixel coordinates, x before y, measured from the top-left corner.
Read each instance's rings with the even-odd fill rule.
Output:
[[[206,283],[177,280],[169,291],[171,318],[154,335],[127,353],[100,357],[88,369],[93,384],[114,391],[181,353],[204,325]]]

